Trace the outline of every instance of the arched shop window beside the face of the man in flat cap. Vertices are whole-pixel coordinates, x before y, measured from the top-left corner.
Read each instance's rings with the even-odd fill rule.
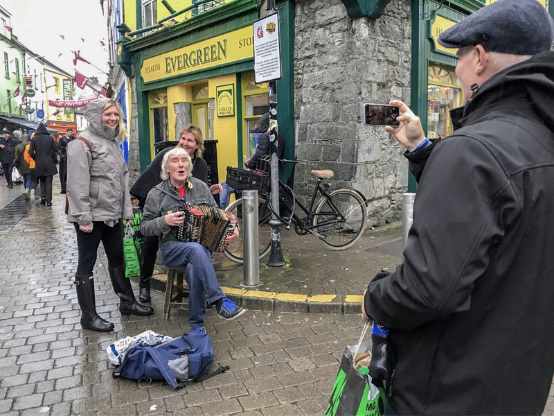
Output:
[[[462,93],[454,69],[429,66],[427,87],[427,135],[430,139],[452,133],[450,110],[462,104]]]

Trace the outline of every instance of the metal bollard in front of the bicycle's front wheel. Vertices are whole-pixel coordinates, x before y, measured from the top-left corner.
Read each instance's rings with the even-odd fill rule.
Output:
[[[258,191],[242,191],[242,225],[244,235],[244,281],[240,286],[260,285],[258,255]]]

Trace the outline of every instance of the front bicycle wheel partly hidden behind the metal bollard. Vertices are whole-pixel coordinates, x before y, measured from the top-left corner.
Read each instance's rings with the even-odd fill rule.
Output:
[[[237,218],[240,229],[240,238],[229,244],[225,249],[225,255],[237,263],[244,262],[244,227],[242,225],[242,198],[235,200],[225,211],[231,211]],[[260,259],[271,250],[271,210],[265,202],[265,198],[258,197],[258,249]]]

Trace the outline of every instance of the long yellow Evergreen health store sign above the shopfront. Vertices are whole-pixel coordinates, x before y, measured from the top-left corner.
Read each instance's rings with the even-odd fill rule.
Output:
[[[147,58],[141,67],[145,83],[229,65],[253,56],[252,26],[211,37]]]

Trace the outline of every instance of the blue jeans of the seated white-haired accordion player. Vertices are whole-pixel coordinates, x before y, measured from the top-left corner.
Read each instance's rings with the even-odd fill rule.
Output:
[[[211,254],[199,243],[169,243],[161,248],[161,260],[165,266],[186,268],[188,284],[188,323],[191,328],[204,327],[206,294],[208,303],[225,297],[217,283]]]

